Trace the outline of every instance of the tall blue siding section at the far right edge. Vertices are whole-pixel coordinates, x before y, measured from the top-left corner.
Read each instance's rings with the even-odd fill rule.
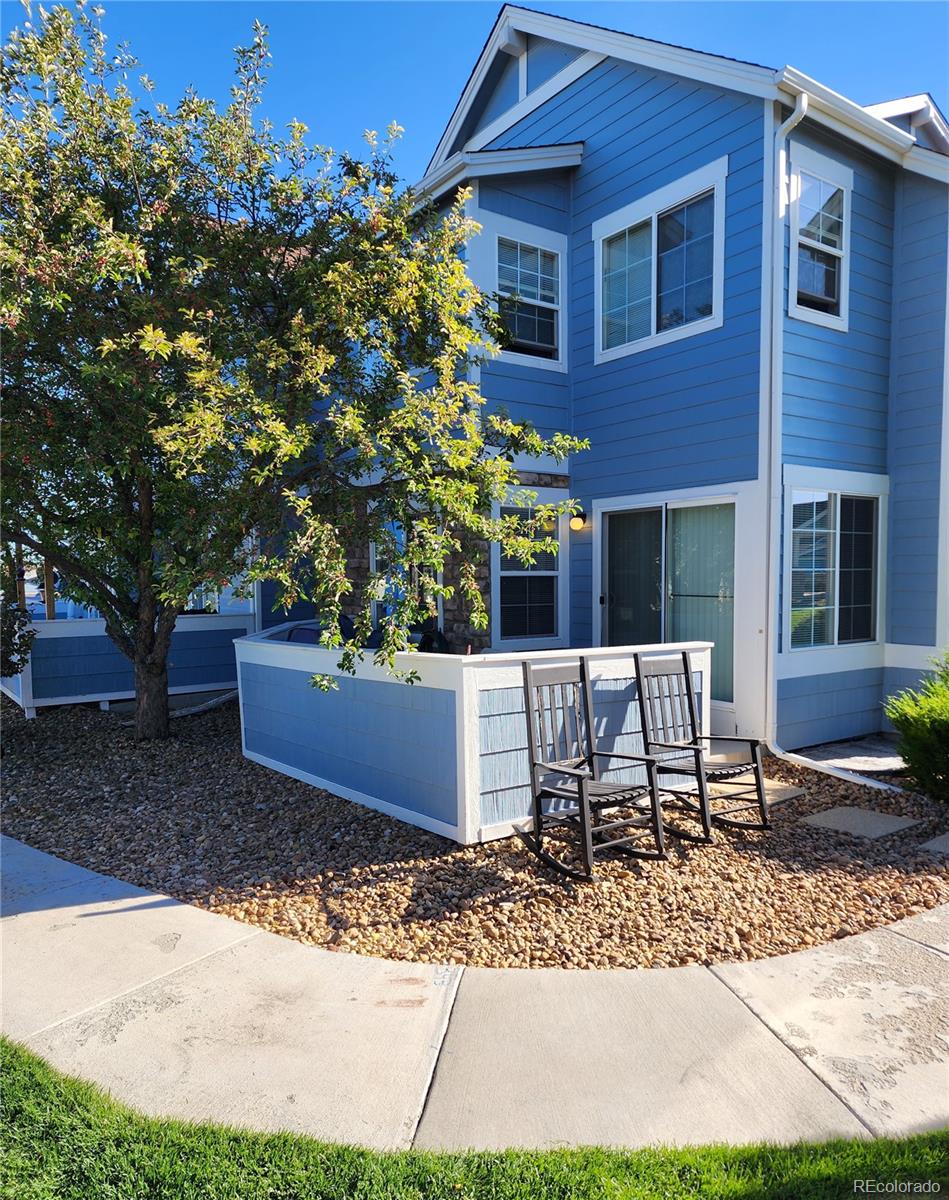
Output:
[[[887,640],[935,646],[949,188],[896,188]],[[949,503],[949,497],[943,503]]]

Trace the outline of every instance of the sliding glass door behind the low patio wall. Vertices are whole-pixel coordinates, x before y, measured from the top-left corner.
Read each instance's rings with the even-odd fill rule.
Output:
[[[734,505],[612,512],[606,523],[611,646],[714,642],[711,698],[734,700]]]

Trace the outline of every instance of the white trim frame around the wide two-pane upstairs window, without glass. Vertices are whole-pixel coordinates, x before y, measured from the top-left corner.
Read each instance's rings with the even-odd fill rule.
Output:
[[[630,354],[641,354],[656,346],[665,346],[667,342],[678,342],[684,337],[695,337],[698,334],[719,329],[725,320],[725,209],[726,209],[726,181],[728,178],[728,156],[716,158],[714,162],[690,172],[681,179],[677,179],[665,187],[660,187],[648,196],[643,196],[630,204],[609,212],[593,222],[590,235],[594,246],[594,362],[612,362],[614,359],[626,358]],[[656,228],[659,217],[667,210],[685,204],[697,196],[711,190],[714,199],[713,215],[713,282],[711,282],[711,316],[701,320],[692,320],[675,329],[656,331],[656,305],[657,283],[656,263],[657,244]],[[651,329],[648,337],[642,337],[635,342],[626,342],[624,346],[613,346],[608,349],[603,347],[603,242],[644,221],[651,221],[653,241],[653,284],[651,284]]]

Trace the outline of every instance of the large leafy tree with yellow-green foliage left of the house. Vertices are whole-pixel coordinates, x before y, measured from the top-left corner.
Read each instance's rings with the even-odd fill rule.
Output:
[[[193,92],[139,107],[101,18],[38,10],[4,48],[2,535],[104,617],[151,738],[197,587],[277,578],[341,646],[347,558],[377,541],[385,568],[341,662],[386,593],[376,653],[391,667],[451,557],[483,625],[467,547],[551,548],[534,536],[549,506],[521,527],[492,502],[516,487],[515,455],[581,443],[485,415],[468,365],[498,325],[460,253],[476,227],[461,203],[418,211],[392,170],[397,127],[367,134],[365,161],[300,122],[278,136],[260,119],[259,24],[224,110]]]

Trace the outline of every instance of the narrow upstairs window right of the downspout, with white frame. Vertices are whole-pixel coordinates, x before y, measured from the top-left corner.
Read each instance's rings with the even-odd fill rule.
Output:
[[[791,144],[788,316],[846,331],[853,172]]]

